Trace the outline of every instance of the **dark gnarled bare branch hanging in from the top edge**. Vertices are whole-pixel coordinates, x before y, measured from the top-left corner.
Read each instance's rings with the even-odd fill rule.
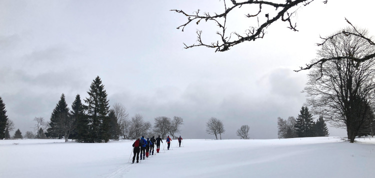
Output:
[[[192,14],[188,14],[183,10],[177,10],[177,9],[172,9],[171,11],[175,11],[177,13],[181,13],[182,15],[187,16],[187,21],[183,23],[182,25],[179,25],[177,29],[180,29],[183,31],[184,28],[190,24],[191,22],[195,22],[196,24],[199,24],[201,20],[204,21],[213,21],[219,28],[220,32],[217,32],[220,36],[220,39],[215,41],[215,42],[203,42],[202,40],[202,31],[197,30],[197,44],[192,44],[192,45],[185,45],[184,48],[190,48],[190,47],[195,47],[195,46],[205,46],[205,47],[210,47],[210,48],[216,48],[216,51],[226,51],[229,50],[231,46],[234,46],[236,44],[239,44],[244,41],[253,41],[258,38],[263,38],[265,34],[265,28],[267,28],[270,24],[273,22],[281,19],[282,21],[285,21],[288,23],[288,28],[293,30],[293,31],[298,31],[296,29],[296,23],[292,23],[291,17],[295,14],[296,9],[292,10],[293,7],[296,7],[298,5],[308,5],[314,0],[285,0],[285,3],[275,3],[267,0],[246,0],[244,2],[236,2],[235,0],[231,0],[232,5],[227,7],[227,4],[224,1],[224,10],[215,15],[210,15],[208,12],[203,12],[202,14],[200,13],[200,10],[194,11]],[[326,1],[323,1],[326,3]],[[249,29],[245,30],[244,35],[239,35],[237,32],[229,32],[227,33],[226,30],[226,19],[227,15],[230,14],[231,12],[235,11],[236,8],[240,8],[242,6],[246,5],[247,7],[252,7],[253,5],[258,5],[259,10],[257,12],[254,12],[254,14],[247,13],[245,14],[246,17],[248,18],[253,18],[256,17],[258,21],[258,27],[254,27],[255,25],[249,25]],[[276,11],[276,13],[262,13],[262,6],[267,6],[267,7],[273,7]],[[272,14],[274,14],[272,16]],[[262,23],[259,25],[259,16],[264,15],[266,19],[262,19]],[[264,20],[263,20],[264,19]],[[235,34],[238,39],[231,39],[230,36],[231,34]]]

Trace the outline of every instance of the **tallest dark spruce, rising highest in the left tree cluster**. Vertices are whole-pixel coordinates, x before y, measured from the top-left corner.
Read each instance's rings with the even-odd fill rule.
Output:
[[[106,132],[109,130],[107,124],[107,114],[109,112],[109,104],[104,85],[101,84],[99,76],[92,81],[88,97],[84,99],[86,105],[87,119],[89,124],[89,142],[102,142],[106,140]],[[104,124],[103,124],[104,123]]]

